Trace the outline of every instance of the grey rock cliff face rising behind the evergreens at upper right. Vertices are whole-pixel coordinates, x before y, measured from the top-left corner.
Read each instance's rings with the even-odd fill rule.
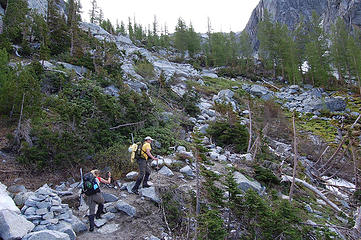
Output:
[[[349,25],[361,27],[361,0],[261,0],[245,28],[256,49],[257,26],[265,9],[273,16],[274,21],[286,24],[289,29],[294,29],[301,16],[304,16],[305,21],[309,21],[312,11],[316,11],[323,18],[323,26],[327,31],[338,17],[343,18]]]

